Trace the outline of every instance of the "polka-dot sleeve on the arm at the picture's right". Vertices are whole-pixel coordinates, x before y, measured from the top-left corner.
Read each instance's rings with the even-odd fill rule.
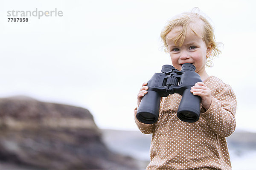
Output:
[[[227,84],[215,87],[210,108],[201,113],[212,130],[220,136],[230,136],[236,128],[236,95]]]

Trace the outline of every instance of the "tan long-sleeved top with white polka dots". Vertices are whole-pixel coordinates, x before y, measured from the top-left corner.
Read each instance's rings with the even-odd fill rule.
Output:
[[[216,77],[208,77],[204,83],[212,92],[212,103],[207,111],[201,108],[197,122],[177,118],[179,94],[161,99],[156,123],[143,124],[135,117],[142,133],[152,133],[146,170],[231,170],[225,137],[236,128],[236,96]]]

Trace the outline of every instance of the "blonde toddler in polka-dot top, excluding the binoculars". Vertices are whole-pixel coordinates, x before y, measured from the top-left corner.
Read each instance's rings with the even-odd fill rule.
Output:
[[[225,137],[236,127],[236,96],[229,85],[205,70],[212,57],[220,54],[211,24],[201,14],[183,13],[167,23],[161,38],[176,69],[184,63],[195,65],[203,82],[196,83],[191,93],[201,97],[201,113],[194,123],[178,119],[179,94],[161,99],[154,124],[139,122],[137,108],[134,110],[140,131],[152,133],[151,161],[146,170],[231,170]],[[147,94],[146,85],[143,83],[137,95],[138,106]]]

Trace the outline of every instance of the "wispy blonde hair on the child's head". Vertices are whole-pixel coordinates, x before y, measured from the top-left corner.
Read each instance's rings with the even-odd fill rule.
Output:
[[[212,46],[212,52],[210,56],[207,56],[207,61],[206,61],[206,66],[212,67],[212,59],[214,57],[218,57],[219,54],[221,54],[221,51],[218,49],[218,45],[222,44],[221,42],[216,42],[215,41],[215,35],[214,35],[214,29],[212,25],[209,23],[209,21],[203,17],[201,14],[199,14],[198,8],[193,8],[191,12],[184,12],[182,14],[179,14],[169,20],[166,23],[166,26],[164,26],[163,30],[161,31],[161,38],[163,42],[163,48],[166,53],[169,53],[169,48],[166,43],[166,35],[172,31],[174,28],[177,27],[182,27],[180,33],[175,37],[174,41],[176,45],[181,46],[185,40],[186,37],[186,32],[188,29],[191,29],[195,34],[197,34],[199,37],[203,38],[203,41],[205,42],[206,45],[211,45]],[[195,27],[198,27],[198,23],[200,22],[201,24],[201,29],[202,32],[201,34],[197,33],[195,30]]]

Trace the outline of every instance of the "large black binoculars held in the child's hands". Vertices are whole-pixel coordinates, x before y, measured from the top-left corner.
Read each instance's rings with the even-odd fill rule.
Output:
[[[181,66],[181,71],[172,65],[163,65],[161,73],[155,73],[148,81],[148,93],[143,96],[137,109],[137,119],[145,124],[157,122],[161,97],[177,93],[182,96],[177,117],[184,122],[198,121],[201,97],[190,92],[197,82],[202,80],[195,72],[194,65],[185,63]]]

